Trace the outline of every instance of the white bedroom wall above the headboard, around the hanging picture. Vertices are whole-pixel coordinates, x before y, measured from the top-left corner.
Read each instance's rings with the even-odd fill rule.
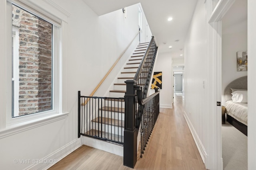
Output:
[[[236,70],[236,52],[247,51],[247,20],[222,27],[222,106],[226,101],[224,90],[236,78],[246,76],[247,71]]]

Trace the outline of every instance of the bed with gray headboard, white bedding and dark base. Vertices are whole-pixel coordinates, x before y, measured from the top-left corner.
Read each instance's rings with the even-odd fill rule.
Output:
[[[247,76],[230,82],[224,90],[224,96],[228,123],[247,136]]]

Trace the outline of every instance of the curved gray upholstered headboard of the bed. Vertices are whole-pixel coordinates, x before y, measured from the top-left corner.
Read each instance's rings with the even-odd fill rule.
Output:
[[[228,86],[226,86],[224,90],[224,96],[226,101],[232,100],[232,92],[230,88],[247,90],[247,76],[237,78],[236,80],[228,84]]]

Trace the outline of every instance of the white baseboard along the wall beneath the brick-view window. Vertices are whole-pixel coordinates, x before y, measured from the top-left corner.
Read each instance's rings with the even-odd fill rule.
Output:
[[[51,166],[53,166],[54,164],[62,160],[64,157],[66,157],[68,154],[70,154],[71,152],[73,152],[74,150],[78,149],[81,146],[81,138],[78,138],[40,160],[38,159],[30,161],[32,165],[25,169],[47,170],[48,168],[50,168]]]

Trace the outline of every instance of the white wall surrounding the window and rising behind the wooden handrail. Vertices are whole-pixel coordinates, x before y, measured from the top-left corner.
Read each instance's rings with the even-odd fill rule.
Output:
[[[36,2],[40,2],[40,8],[49,10],[52,14],[58,11],[43,5],[48,1]],[[66,25],[63,30],[63,43],[66,48],[63,49],[65,57],[62,59],[62,109],[63,112],[69,113],[65,119],[0,138],[0,169],[28,168],[35,164],[32,161],[22,163],[20,160],[59,159],[79,147],[78,90],[81,90],[82,95],[89,95],[138,32],[138,4],[127,7],[127,18],[124,18],[122,10],[98,17],[82,0],[54,0],[54,3],[60,6],[61,11],[70,14],[66,22],[63,22]],[[4,5],[1,3],[0,10]],[[1,59],[2,57],[0,56]],[[0,68],[6,68],[4,65],[4,61],[1,62]],[[4,75],[1,74],[1,78]],[[0,88],[5,91],[7,87],[1,83]],[[5,95],[6,93],[0,96],[0,103],[6,103]],[[5,110],[1,110],[0,114],[6,114]],[[0,127],[0,135],[3,135],[6,129],[2,125]],[[17,164],[14,163],[15,159],[19,160]]]

